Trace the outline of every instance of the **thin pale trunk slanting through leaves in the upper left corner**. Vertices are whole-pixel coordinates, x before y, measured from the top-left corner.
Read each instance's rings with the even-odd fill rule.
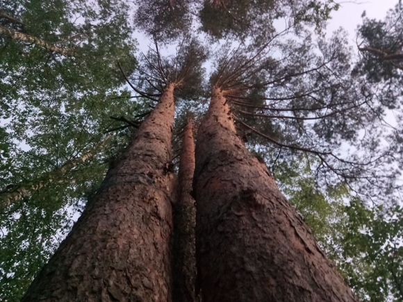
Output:
[[[43,47],[48,51],[54,51],[55,53],[59,53],[63,56],[74,56],[74,49],[65,49],[63,47],[58,47],[57,45],[48,43],[40,39],[39,37],[34,37],[33,35],[21,33],[20,31],[15,31],[11,28],[7,28],[6,26],[0,25],[0,35],[3,35],[4,37],[10,37],[13,40],[37,44],[38,46]]]

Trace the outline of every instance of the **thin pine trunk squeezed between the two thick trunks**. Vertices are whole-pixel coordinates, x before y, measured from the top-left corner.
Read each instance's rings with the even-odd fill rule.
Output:
[[[174,301],[195,302],[195,199],[192,198],[195,171],[195,142],[192,119],[183,133],[179,160],[179,200],[174,207]]]

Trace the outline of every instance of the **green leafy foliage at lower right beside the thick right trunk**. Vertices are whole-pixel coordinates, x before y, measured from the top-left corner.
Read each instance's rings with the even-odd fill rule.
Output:
[[[361,301],[403,299],[403,209],[368,207],[343,183],[324,190],[300,158],[275,170],[281,190]]]

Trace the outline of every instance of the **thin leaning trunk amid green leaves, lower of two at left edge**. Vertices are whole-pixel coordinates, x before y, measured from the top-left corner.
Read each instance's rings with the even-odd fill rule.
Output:
[[[37,181],[33,181],[28,185],[26,185],[26,183],[18,183],[17,185],[13,185],[11,190],[0,191],[0,211],[4,208],[7,208],[11,203],[15,203],[24,197],[30,196],[33,194],[33,192],[42,189],[42,187],[46,187],[50,183],[65,183],[66,181],[71,182],[71,180],[65,179],[65,174],[74,169],[74,167],[77,165],[80,165],[90,158],[93,158],[110,139],[110,137],[112,137],[112,135],[107,135],[104,140],[94,146],[94,148],[88,153],[65,162],[65,164],[61,165],[58,169],[50,171],[49,173],[41,176]]]

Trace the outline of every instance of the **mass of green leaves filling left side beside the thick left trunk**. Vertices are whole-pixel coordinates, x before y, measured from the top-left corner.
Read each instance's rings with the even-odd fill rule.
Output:
[[[0,36],[1,301],[19,301],[133,131],[145,105],[122,90],[136,66],[122,1],[2,1],[0,25],[72,51]],[[24,192],[24,193],[22,193]],[[10,199],[13,196],[13,199]]]

